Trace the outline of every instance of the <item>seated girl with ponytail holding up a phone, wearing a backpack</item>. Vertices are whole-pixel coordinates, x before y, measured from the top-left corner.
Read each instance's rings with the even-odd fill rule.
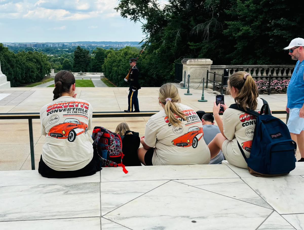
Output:
[[[257,85],[249,73],[238,71],[233,73],[228,79],[227,94],[230,94],[235,103],[245,111],[247,108],[258,113],[263,106],[263,100],[259,98]],[[219,107],[214,102],[213,116],[221,133],[208,144],[211,159],[215,157],[220,150],[226,160],[237,167],[247,168],[247,163],[241,154],[238,143],[248,158],[250,156],[252,139],[255,128],[256,117],[244,113],[240,110],[224,107],[223,120],[219,116]]]

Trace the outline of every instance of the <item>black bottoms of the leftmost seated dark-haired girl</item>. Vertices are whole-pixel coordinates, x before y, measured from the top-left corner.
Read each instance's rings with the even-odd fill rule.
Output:
[[[96,172],[102,170],[101,161],[99,160],[98,155],[94,154],[90,163],[88,163],[85,167],[74,170],[74,171],[57,171],[44,163],[42,160],[42,156],[39,161],[38,172],[43,177],[47,178],[73,178],[73,177],[86,177],[95,174]]]

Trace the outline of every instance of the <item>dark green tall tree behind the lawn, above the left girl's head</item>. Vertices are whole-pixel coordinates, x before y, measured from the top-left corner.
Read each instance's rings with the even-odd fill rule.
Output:
[[[74,72],[88,72],[90,68],[91,57],[89,51],[82,49],[80,46],[77,46],[74,51]]]

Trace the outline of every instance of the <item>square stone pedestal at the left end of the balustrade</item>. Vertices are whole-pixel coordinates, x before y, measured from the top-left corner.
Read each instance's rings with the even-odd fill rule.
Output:
[[[199,89],[202,89],[203,83],[201,81],[204,77],[206,85],[207,69],[210,71],[212,61],[207,58],[193,58],[182,59],[181,63],[183,64],[183,80],[186,71],[186,83],[188,80],[187,76],[190,74],[190,88],[197,88],[199,86]]]

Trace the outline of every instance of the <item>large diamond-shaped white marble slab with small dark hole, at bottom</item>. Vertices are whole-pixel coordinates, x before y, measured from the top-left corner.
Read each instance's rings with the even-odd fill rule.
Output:
[[[271,212],[268,208],[169,181],[104,217],[131,229],[215,230],[237,226],[250,230],[256,229]]]

